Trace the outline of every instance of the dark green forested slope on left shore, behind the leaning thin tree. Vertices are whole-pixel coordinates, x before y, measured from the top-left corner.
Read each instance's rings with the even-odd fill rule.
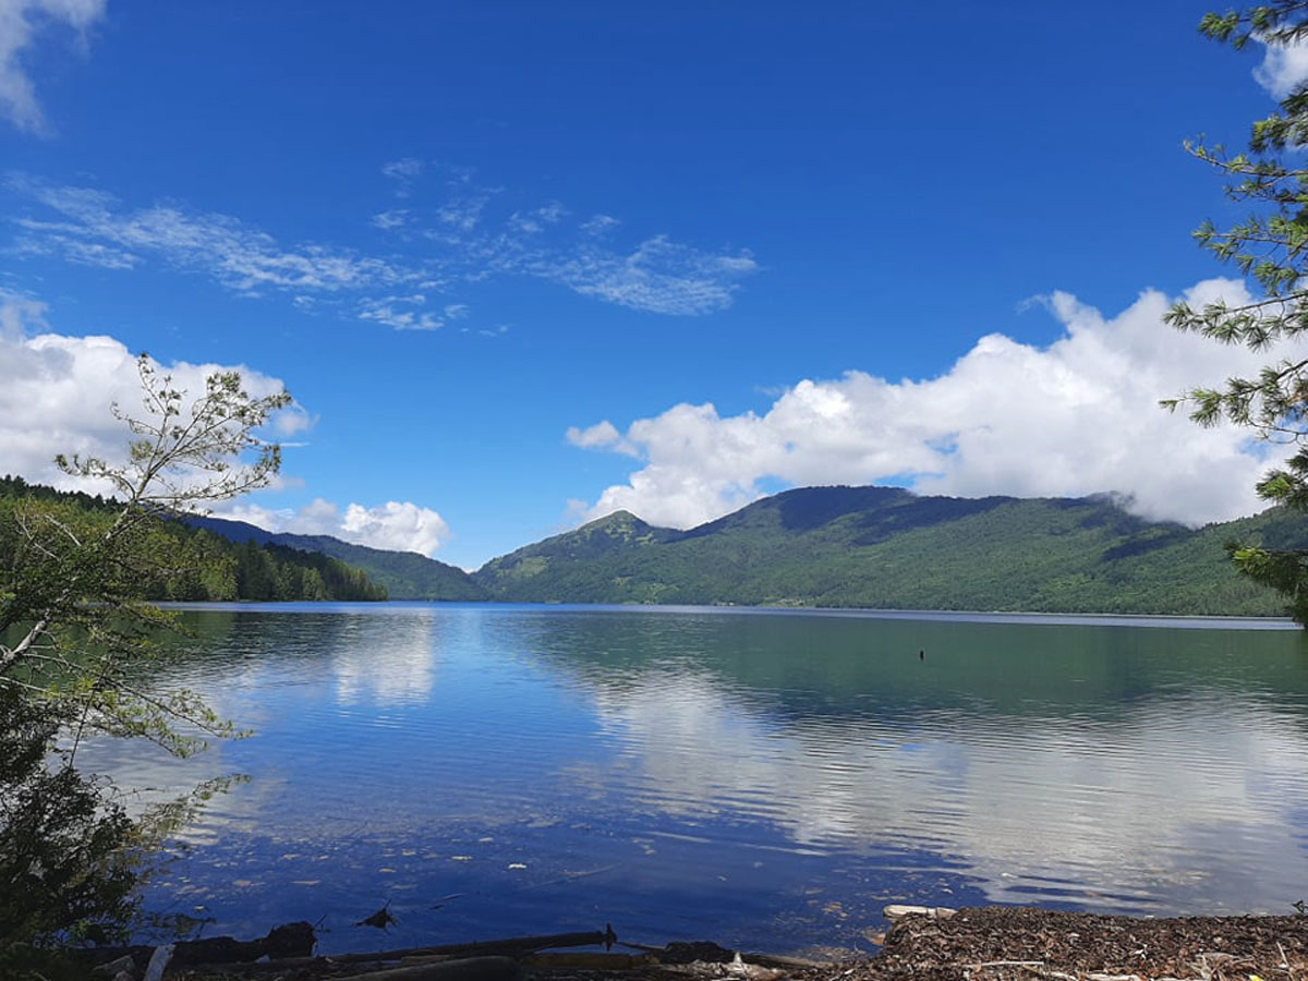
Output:
[[[112,521],[120,505],[78,492],[63,492],[22,477],[0,477],[0,576],[14,568],[21,548],[18,521],[26,505],[68,526],[95,530]],[[149,600],[382,600],[386,589],[366,573],[319,552],[276,543],[234,543],[182,522],[157,521],[148,547],[158,556],[156,573],[141,582]],[[133,590],[135,591],[135,590]]]

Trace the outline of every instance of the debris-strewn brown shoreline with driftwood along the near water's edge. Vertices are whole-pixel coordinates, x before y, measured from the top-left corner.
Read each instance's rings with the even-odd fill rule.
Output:
[[[519,937],[445,947],[272,960],[233,957],[226,964],[198,963],[199,951],[179,943],[177,947],[182,950],[165,977],[187,981],[535,977],[548,981],[1299,981],[1308,972],[1308,916],[1301,913],[1152,918],[1037,906],[887,906],[884,914],[891,927],[876,954],[831,961],[740,954],[709,940],[649,947],[623,942],[608,927],[593,934]],[[293,929],[313,938],[309,923],[294,923],[277,927],[268,939]],[[255,947],[260,942],[225,939],[246,955],[267,955]],[[596,950],[600,947],[602,951]],[[560,952],[562,948],[566,952]],[[141,951],[137,961],[145,956]]]

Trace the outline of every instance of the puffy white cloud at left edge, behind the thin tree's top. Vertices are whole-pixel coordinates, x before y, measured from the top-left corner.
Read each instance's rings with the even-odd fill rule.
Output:
[[[54,464],[56,453],[123,462],[131,433],[114,419],[116,403],[129,416],[145,417],[136,356],[114,337],[69,337],[54,334],[46,306],[31,297],[0,292],[0,470],[61,488],[105,492],[78,484]],[[174,387],[203,392],[204,379],[230,365],[160,365]],[[281,391],[281,381],[243,365],[246,390],[262,398]],[[277,413],[273,430],[290,436],[313,422],[301,408]]]

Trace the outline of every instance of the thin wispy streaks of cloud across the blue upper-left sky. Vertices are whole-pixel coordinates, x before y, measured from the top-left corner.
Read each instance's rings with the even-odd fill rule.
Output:
[[[421,170],[415,158],[383,167],[402,182],[404,196]],[[706,251],[666,234],[621,247],[607,234],[617,226],[615,218],[600,215],[578,224],[559,201],[492,212],[504,188],[477,186],[464,171],[445,182],[447,196],[436,207],[411,201],[371,216],[374,228],[403,245],[402,258],[319,242],[288,246],[228,215],[177,203],[132,208],[95,188],[22,174],[5,186],[44,208],[12,218],[18,255],[124,271],[154,260],[243,296],[283,292],[302,310],[315,297],[352,296],[353,303],[336,307],[396,330],[434,330],[441,322],[434,311],[409,311],[378,296],[396,289],[447,294],[492,277],[531,277],[633,310],[695,317],[729,307],[740,281],[759,269],[747,251]],[[446,309],[466,309],[454,297],[441,300]]]

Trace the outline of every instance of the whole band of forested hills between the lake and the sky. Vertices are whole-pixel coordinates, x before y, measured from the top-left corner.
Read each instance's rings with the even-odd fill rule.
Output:
[[[107,514],[111,506],[0,479],[0,510],[22,497],[85,513]],[[1189,528],[1131,515],[1108,497],[956,498],[884,487],[800,488],[688,531],[617,511],[493,559],[471,577],[412,552],[217,518],[187,518],[160,534],[171,536],[171,564],[191,572],[144,583],[152,599],[388,594],[456,602],[1273,616],[1284,612],[1282,599],[1239,576],[1224,545],[1301,548],[1308,545],[1308,518],[1271,509]],[[4,548],[0,538],[0,559]]]

